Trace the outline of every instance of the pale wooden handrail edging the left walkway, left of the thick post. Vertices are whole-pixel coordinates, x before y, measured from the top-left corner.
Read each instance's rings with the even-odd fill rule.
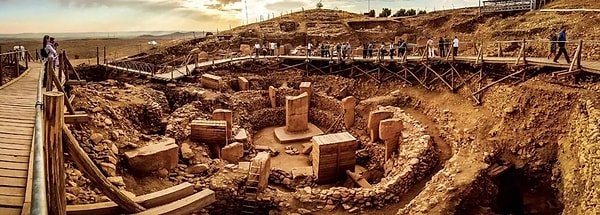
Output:
[[[42,71],[38,77],[37,99],[35,103],[35,130],[33,142],[33,188],[31,199],[31,214],[48,214],[46,199],[46,169],[42,136],[42,80],[46,61],[42,62]]]

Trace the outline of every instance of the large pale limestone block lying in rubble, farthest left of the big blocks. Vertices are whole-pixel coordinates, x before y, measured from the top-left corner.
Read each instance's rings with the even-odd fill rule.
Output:
[[[162,141],[125,152],[125,158],[132,170],[151,173],[159,169],[173,169],[179,161],[179,147],[175,139]]]

